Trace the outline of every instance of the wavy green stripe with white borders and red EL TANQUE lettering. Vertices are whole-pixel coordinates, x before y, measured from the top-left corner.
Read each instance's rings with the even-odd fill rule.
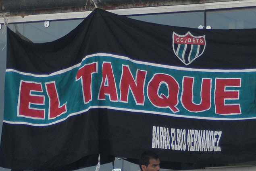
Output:
[[[91,108],[209,120],[256,118],[256,69],[191,69],[94,54],[50,75],[6,70],[4,122],[43,126]]]

